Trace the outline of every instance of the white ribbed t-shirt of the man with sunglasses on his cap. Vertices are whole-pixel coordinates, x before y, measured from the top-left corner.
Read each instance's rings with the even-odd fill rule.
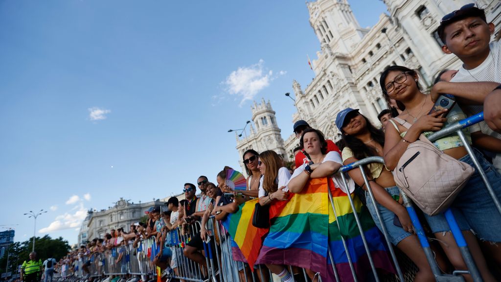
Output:
[[[490,52],[485,61],[478,67],[467,70],[461,66],[456,75],[452,78],[452,82],[477,82],[477,81],[492,81],[501,83],[501,48],[499,41],[493,41],[489,44]],[[465,106],[465,113],[470,116],[483,111],[483,105]],[[487,135],[501,139],[501,134],[489,128],[485,121],[470,126],[470,131],[482,131]],[[501,154],[496,154],[492,158],[492,163],[498,172],[501,173]]]

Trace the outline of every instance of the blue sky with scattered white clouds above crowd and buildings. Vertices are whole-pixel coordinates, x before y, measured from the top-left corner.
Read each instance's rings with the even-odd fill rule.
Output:
[[[362,27],[381,1],[350,1]],[[0,231],[77,241],[86,210],[238,168],[253,99],[292,131],[320,44],[304,1],[0,1]],[[250,85],[250,86],[249,86]],[[10,224],[19,224],[13,225]],[[42,232],[40,232],[42,231]]]

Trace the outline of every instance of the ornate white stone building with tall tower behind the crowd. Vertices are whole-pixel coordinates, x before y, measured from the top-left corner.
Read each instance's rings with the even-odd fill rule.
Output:
[[[359,108],[374,124],[379,124],[377,114],[386,108],[379,87],[379,77],[385,67],[397,64],[418,70],[423,89],[431,85],[440,70],[459,68],[460,61],[454,55],[442,53],[436,30],[445,14],[471,3],[471,0],[383,2],[389,15],[381,14],[371,29],[360,27],[347,0],[306,3],[310,25],[320,42],[321,51],[312,62],[313,81],[304,89],[296,80],[293,81],[298,108],[293,122],[304,119],[312,127],[322,130],[329,139],[338,140],[340,132],[334,121],[337,113],[346,107]],[[487,21],[495,24],[495,34],[498,33],[500,2],[478,0],[476,3],[485,10]],[[277,127],[276,131],[280,132],[280,128]],[[275,137],[274,143],[283,143],[287,153],[283,154],[282,148],[277,148],[277,152],[287,158],[292,156],[299,143],[296,136],[290,135],[285,142],[282,137]],[[240,157],[242,147],[242,140],[237,140]]]

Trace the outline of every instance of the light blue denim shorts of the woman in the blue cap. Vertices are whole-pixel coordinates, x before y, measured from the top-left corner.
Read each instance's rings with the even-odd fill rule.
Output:
[[[386,192],[390,194],[390,196],[393,195],[399,195],[400,190],[398,190],[398,187],[393,186],[393,187],[387,187],[385,188]],[[381,228],[381,223],[379,222],[377,215],[376,215],[376,210],[373,202],[371,201],[371,198],[369,197],[369,192],[365,191],[365,201],[367,203],[367,208],[369,209],[369,212],[371,213],[372,219],[374,219],[374,223],[376,223],[377,227],[381,232],[383,232],[383,229]],[[379,213],[381,214],[381,218],[383,219],[384,226],[386,227],[386,230],[388,231],[388,238],[390,239],[390,242],[393,245],[397,245],[400,241],[403,239],[407,238],[408,236],[412,235],[412,233],[406,232],[402,227],[396,226],[393,224],[393,217],[395,217],[395,214],[390,211],[389,209],[385,208],[383,205],[379,204],[376,202],[376,206],[379,209]]]

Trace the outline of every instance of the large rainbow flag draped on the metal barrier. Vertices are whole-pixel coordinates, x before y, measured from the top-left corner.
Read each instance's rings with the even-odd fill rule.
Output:
[[[331,187],[336,216],[329,202]],[[382,235],[366,207],[353,197],[376,267],[394,272]],[[329,245],[336,270],[342,281],[353,280],[344,250],[344,236],[359,279],[370,272],[367,255],[347,195],[336,189],[331,178],[311,179],[301,193],[291,194],[289,201],[274,202],[270,207],[270,229],[252,225],[256,200],[240,205],[237,213],[223,222],[231,238],[250,265],[257,263],[295,265],[320,272],[323,279],[334,280]],[[338,227],[339,223],[339,227]],[[262,243],[262,237],[265,237]]]

